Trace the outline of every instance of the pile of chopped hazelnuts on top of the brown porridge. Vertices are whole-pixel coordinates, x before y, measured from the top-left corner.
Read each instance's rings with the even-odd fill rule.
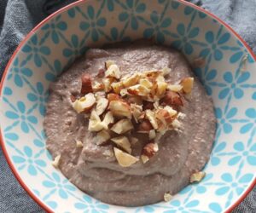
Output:
[[[88,114],[88,130],[96,132],[96,144],[113,143],[113,153],[120,166],[128,167],[139,161],[132,156],[131,144],[138,141],[133,133],[148,135],[141,160],[145,164],[158,152],[158,141],[168,130],[179,130],[179,112],[183,95],[193,88],[194,78],[183,78],[180,83],[166,83],[170,68],[137,72],[122,76],[113,60],[105,62],[105,70],[92,79],[90,74],[81,77],[81,95],[71,96],[73,109]]]

